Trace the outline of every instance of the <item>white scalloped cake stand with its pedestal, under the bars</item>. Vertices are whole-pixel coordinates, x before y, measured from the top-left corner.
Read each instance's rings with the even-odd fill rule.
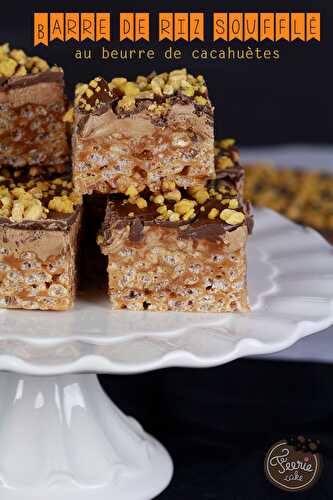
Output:
[[[209,367],[284,349],[333,323],[333,252],[269,210],[249,243],[247,314],[0,312],[1,500],[149,500],[172,476],[164,448],[96,373]],[[93,374],[82,374],[84,372]]]

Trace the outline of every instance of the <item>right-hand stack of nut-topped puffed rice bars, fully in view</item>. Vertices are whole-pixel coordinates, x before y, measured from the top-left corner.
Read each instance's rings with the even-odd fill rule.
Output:
[[[214,159],[213,126],[204,78],[186,70],[77,87],[73,180],[108,195],[113,309],[248,310],[244,171],[232,140]]]

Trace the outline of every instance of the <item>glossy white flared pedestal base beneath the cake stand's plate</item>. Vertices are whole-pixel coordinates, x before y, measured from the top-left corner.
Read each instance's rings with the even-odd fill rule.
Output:
[[[96,375],[0,375],[1,500],[150,500],[172,472]]]

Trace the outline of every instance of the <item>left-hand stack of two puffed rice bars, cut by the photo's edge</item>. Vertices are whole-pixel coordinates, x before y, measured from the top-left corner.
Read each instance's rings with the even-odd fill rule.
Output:
[[[0,307],[73,305],[82,209],[64,112],[62,70],[0,46]]]

